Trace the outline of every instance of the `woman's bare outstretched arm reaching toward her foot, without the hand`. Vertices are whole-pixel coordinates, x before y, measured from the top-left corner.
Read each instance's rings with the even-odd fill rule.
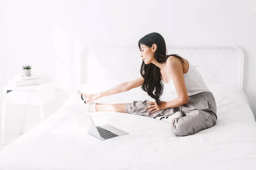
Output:
[[[125,91],[129,91],[131,90],[132,88],[137,88],[139,86],[141,86],[144,82],[144,78],[143,77],[139,77],[137,79],[134,79],[130,82],[123,82],[119,85],[116,85],[115,87],[107,90],[107,91],[104,91],[102,93],[100,93],[100,96],[101,97],[104,97],[104,96],[110,96],[110,95],[113,95],[113,94],[118,94],[118,93],[122,93],[122,92],[125,92]]]

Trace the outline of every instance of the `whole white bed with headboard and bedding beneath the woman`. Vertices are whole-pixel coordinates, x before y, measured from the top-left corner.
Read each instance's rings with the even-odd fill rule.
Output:
[[[254,170],[256,122],[243,91],[243,55],[233,47],[167,47],[195,65],[215,96],[215,126],[178,137],[168,122],[118,112],[89,113],[96,126],[110,124],[129,133],[100,141],[84,133],[74,116],[76,92],[55,113],[0,152],[0,170]],[[100,93],[140,76],[137,47],[84,47],[79,89]],[[232,66],[232,67],[231,67]],[[131,89],[97,99],[125,103],[149,99]],[[161,100],[175,96],[163,94]],[[72,105],[72,107],[71,107]]]

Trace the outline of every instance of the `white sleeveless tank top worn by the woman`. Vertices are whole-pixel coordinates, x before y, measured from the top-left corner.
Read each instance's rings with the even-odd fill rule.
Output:
[[[166,60],[166,62],[167,62],[167,60]],[[167,68],[168,68],[168,63],[167,63]],[[168,68],[168,70],[169,70],[169,68]],[[170,73],[170,71],[169,71],[169,73]],[[184,76],[184,80],[185,80],[185,84],[186,84],[186,90],[187,90],[189,96],[201,93],[203,91],[210,91],[207,84],[204,81],[204,78],[200,74],[200,72],[190,62],[189,62],[189,71],[186,74],[183,74],[183,76]],[[165,93],[167,92],[167,94],[171,93],[171,94],[177,95],[177,92],[175,90],[175,85],[172,80],[171,73],[170,73],[170,77],[171,78],[170,78],[169,83],[165,83],[161,79],[161,81],[164,84],[163,91]]]

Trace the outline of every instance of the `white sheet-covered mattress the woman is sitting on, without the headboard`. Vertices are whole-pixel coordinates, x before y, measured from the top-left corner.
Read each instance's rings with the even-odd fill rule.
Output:
[[[90,113],[96,125],[110,124],[130,133],[100,141],[83,133],[69,107],[73,94],[52,116],[0,152],[0,170],[255,169],[256,123],[247,97],[233,86],[208,85],[217,103],[217,123],[185,137],[175,136],[169,123],[150,117]],[[94,90],[100,91],[99,86]],[[136,88],[98,102],[145,97]]]

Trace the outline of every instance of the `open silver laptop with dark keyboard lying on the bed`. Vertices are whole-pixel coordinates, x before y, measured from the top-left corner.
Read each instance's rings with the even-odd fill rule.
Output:
[[[74,113],[83,130],[99,140],[104,141],[107,139],[112,139],[117,136],[129,134],[123,130],[120,130],[108,124],[102,126],[95,126],[92,117],[86,112],[80,111],[77,108],[74,108]]]

